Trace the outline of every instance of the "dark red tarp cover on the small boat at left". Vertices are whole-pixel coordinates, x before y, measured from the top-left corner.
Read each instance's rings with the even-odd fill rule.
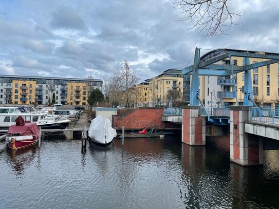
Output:
[[[17,122],[19,121],[19,122]],[[25,123],[21,116],[15,119],[16,125],[9,127],[8,135],[19,134],[20,136],[33,136],[33,139],[39,139],[39,126],[36,123]],[[18,124],[18,125],[17,125]]]

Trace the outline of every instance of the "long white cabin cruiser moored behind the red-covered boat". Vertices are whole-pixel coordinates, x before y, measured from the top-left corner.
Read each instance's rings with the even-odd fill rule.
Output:
[[[15,119],[22,116],[26,123],[36,123],[42,129],[65,129],[70,120],[46,119],[49,116],[46,112],[22,112],[17,107],[0,107],[0,130],[8,130],[15,124]]]

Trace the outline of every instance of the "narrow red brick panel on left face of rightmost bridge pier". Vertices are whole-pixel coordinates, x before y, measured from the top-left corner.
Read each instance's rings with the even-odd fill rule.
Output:
[[[239,160],[239,111],[233,111],[233,158]]]

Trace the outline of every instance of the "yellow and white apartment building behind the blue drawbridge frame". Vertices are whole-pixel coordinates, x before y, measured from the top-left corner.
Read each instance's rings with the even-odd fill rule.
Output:
[[[265,54],[267,52],[251,52]],[[267,61],[265,59],[250,58],[250,64]],[[243,66],[242,57],[232,57],[232,65]],[[231,65],[229,59],[215,64]],[[199,75],[199,91],[205,106],[216,105],[243,105],[244,101],[244,72],[230,76]],[[253,100],[258,106],[274,106],[279,103],[279,64],[270,64],[251,70],[253,86]],[[184,101],[189,101],[190,75],[184,75],[183,90]],[[187,93],[188,89],[188,93]]]

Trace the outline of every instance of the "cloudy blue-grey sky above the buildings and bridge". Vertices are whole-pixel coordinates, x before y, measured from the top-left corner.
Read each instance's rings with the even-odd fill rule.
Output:
[[[279,1],[232,0],[228,35],[204,37],[175,1],[0,0],[0,74],[95,79],[126,59],[139,82],[191,65],[196,47],[279,52]]]

